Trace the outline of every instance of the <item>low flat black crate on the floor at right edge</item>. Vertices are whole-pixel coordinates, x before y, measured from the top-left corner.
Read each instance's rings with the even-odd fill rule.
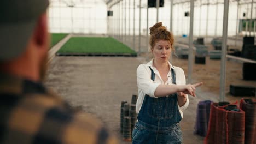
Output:
[[[230,85],[229,92],[234,96],[255,96],[255,87]]]

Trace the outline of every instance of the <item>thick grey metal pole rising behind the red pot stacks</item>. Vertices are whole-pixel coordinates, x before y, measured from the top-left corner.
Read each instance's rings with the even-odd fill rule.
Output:
[[[228,17],[229,17],[229,0],[224,1],[223,15],[223,32],[222,32],[222,60],[220,69],[220,94],[219,101],[225,100],[225,84],[226,84],[226,40],[228,38]]]

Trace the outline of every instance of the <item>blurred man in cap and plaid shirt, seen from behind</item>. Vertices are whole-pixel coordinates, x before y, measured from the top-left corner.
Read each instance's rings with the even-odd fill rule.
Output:
[[[0,4],[0,143],[117,143],[42,81],[48,61],[48,0]]]

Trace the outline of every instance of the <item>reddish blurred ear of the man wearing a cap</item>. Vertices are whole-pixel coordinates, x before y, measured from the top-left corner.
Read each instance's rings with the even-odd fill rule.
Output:
[[[40,15],[34,30],[34,42],[38,46],[44,46],[48,43],[48,23],[46,13]]]

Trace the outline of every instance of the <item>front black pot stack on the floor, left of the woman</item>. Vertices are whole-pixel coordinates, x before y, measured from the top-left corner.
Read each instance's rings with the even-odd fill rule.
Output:
[[[131,141],[131,117],[129,117],[130,105],[124,104],[123,140]]]

